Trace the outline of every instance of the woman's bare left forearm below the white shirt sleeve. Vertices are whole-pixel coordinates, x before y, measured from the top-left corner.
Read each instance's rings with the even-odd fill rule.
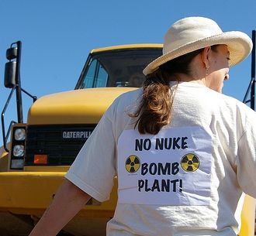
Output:
[[[91,196],[64,180],[53,202],[29,236],[55,236],[90,200]]]

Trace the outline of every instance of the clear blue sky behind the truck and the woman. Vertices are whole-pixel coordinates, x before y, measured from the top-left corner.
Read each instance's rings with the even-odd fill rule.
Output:
[[[223,31],[256,29],[255,0],[1,0],[0,110],[5,50],[22,41],[22,87],[37,97],[74,89],[90,50],[125,43],[162,43],[166,30],[185,16],[214,19]],[[223,93],[242,100],[251,79],[251,56],[230,70]],[[22,95],[26,113],[31,99]],[[16,120],[13,97],[5,123]],[[1,139],[2,144],[2,128]]]

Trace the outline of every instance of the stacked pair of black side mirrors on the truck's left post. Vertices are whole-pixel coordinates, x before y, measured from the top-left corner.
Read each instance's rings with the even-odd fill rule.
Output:
[[[16,85],[16,59],[18,55],[17,47],[10,47],[6,50],[6,58],[9,60],[8,63],[5,63],[5,87],[12,88]]]

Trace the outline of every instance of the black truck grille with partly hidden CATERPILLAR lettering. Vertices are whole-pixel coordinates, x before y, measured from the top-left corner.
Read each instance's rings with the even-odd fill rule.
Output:
[[[30,125],[26,133],[25,166],[34,155],[47,155],[49,166],[70,166],[96,125]]]

